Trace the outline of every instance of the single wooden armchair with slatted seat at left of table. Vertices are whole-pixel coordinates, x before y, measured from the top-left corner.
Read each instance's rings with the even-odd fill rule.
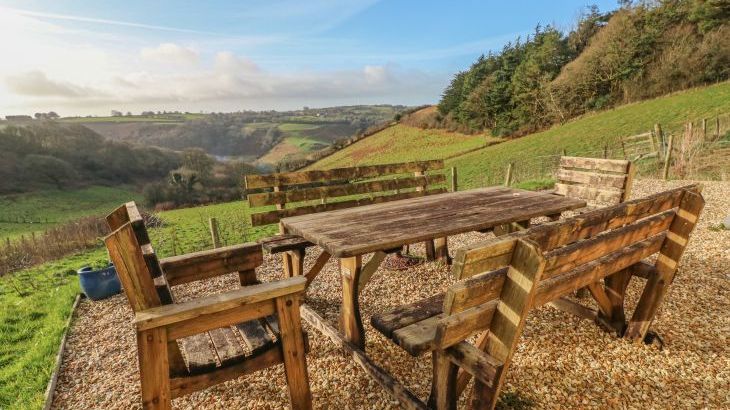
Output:
[[[311,408],[299,316],[304,278],[258,283],[263,255],[254,243],[158,261],[134,202],[107,223],[109,256],[135,312],[143,408],[169,409],[175,397],[278,363],[292,407]],[[175,302],[170,291],[230,272],[245,286],[188,302]]]

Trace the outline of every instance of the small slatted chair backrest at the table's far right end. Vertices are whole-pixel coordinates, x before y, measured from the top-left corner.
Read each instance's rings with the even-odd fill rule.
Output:
[[[634,173],[627,160],[561,157],[555,193],[615,205],[631,196]]]

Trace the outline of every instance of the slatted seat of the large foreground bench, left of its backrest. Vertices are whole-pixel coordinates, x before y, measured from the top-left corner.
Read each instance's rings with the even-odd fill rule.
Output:
[[[370,323],[412,356],[433,350],[444,293],[373,316]]]

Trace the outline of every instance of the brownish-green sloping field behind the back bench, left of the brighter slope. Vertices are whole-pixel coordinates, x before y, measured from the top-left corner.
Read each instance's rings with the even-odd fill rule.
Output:
[[[479,148],[494,140],[496,139],[484,135],[422,130],[399,124],[323,158],[309,168],[327,169],[446,158]]]

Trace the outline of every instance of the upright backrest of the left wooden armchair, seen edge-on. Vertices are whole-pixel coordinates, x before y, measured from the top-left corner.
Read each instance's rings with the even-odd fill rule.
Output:
[[[138,312],[173,303],[137,205],[120,206],[106,221],[112,233],[104,243],[132,309]]]

